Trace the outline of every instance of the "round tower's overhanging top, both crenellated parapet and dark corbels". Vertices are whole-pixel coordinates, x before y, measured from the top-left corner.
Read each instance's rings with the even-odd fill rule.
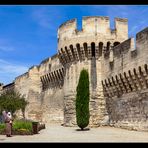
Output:
[[[69,62],[98,59],[103,52],[128,39],[127,19],[115,18],[114,30],[109,17],[82,18],[82,30],[77,29],[77,19],[63,23],[58,29],[58,57],[64,65]],[[95,50],[95,51],[94,51]]]

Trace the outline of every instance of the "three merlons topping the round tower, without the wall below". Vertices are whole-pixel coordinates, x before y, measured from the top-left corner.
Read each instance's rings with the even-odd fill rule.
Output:
[[[128,20],[126,18],[115,18],[114,19],[114,30],[120,31],[120,29],[125,29],[128,31]],[[68,20],[59,26],[58,37],[62,39],[62,35],[71,33],[71,35],[76,35],[77,31],[77,19]],[[80,31],[80,30],[79,30]],[[82,18],[82,30],[80,32],[85,33],[109,33],[110,28],[110,19],[105,16],[84,16]],[[65,36],[66,37],[66,36]],[[68,37],[68,36],[67,36]]]

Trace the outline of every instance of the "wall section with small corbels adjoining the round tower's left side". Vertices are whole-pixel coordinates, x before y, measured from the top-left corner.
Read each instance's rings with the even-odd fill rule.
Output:
[[[57,55],[41,62],[40,80],[42,121],[63,124],[64,69]]]

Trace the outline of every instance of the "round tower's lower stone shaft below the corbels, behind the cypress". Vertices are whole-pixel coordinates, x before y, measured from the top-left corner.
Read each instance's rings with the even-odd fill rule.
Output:
[[[93,61],[93,60],[92,60]],[[90,82],[90,123],[89,126],[99,126],[105,115],[103,91],[98,86],[101,79],[97,78],[100,75],[101,67],[98,61],[77,61],[71,65],[66,65],[66,74],[64,79],[64,125],[76,125],[75,99],[76,87],[78,85],[81,70],[84,68],[89,72]]]

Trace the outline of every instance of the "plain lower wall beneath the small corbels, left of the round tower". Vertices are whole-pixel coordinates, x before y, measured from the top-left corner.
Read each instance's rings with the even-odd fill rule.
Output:
[[[47,89],[41,93],[42,122],[63,124],[64,93],[62,88]]]

